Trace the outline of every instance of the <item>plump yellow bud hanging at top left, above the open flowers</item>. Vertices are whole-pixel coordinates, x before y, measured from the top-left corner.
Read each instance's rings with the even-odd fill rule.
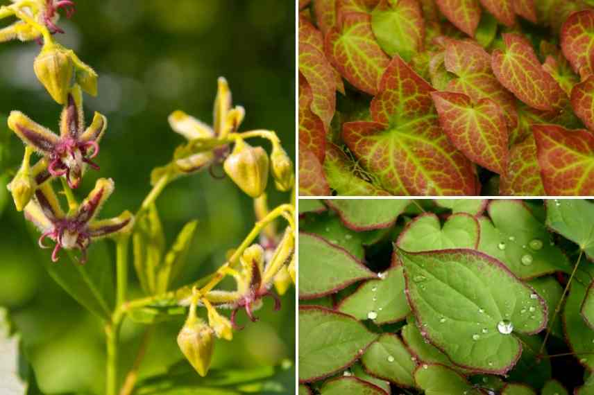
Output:
[[[35,59],[33,69],[53,100],[65,104],[74,76],[74,64],[69,51],[58,44],[45,44]]]

